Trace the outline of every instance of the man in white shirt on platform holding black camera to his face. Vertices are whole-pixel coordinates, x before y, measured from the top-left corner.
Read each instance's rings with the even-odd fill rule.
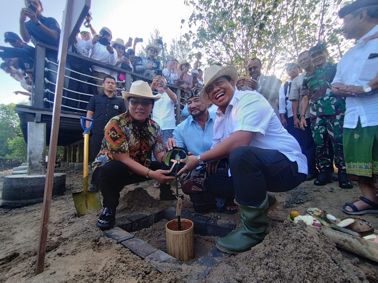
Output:
[[[102,63],[115,66],[117,64],[117,51],[110,46],[112,38],[111,30],[107,27],[102,27],[98,35],[95,35],[92,40],[81,42],[82,48],[92,49],[91,58]],[[111,71],[102,67],[93,66],[93,76],[98,78],[97,93],[103,92],[102,80],[111,75]],[[114,77],[115,78],[115,77]]]

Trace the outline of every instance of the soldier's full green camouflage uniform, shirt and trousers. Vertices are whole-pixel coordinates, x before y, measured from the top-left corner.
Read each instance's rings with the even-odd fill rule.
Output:
[[[303,79],[302,90],[308,90],[312,137],[316,144],[316,166],[318,169],[331,166],[328,153],[328,140],[331,140],[337,168],[345,168],[343,154],[343,123],[345,99],[331,92],[336,66],[326,66],[307,73]],[[302,92],[302,95],[305,92]]]

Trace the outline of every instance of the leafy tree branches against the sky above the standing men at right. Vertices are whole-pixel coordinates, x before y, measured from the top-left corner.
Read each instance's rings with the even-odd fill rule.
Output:
[[[342,37],[337,11],[345,0],[185,0],[193,9],[187,41],[220,62],[246,73],[261,58],[265,72],[296,61],[298,53],[324,41],[340,58]],[[182,20],[184,24],[186,20]],[[335,53],[336,51],[336,53]]]

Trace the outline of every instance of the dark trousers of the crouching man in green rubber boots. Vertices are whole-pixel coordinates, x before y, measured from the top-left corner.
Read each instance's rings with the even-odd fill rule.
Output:
[[[228,170],[221,170],[206,180],[206,188],[215,194],[235,192],[241,205],[258,206],[267,191],[286,192],[294,189],[306,179],[298,173],[296,161],[290,161],[278,150],[241,146],[231,151]]]

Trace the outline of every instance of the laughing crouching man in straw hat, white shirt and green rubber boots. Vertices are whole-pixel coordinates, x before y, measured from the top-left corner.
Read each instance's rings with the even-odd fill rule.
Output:
[[[283,128],[261,94],[235,90],[237,78],[238,72],[232,66],[210,66],[205,71],[200,99],[205,105],[218,106],[212,148],[189,156],[179,172],[228,158],[229,170],[217,171],[214,176],[218,181],[209,184],[214,186],[209,189],[232,187],[240,204],[242,226],[216,244],[219,250],[231,254],[248,251],[264,240],[267,212],[277,205],[267,191],[294,189],[307,174],[306,157],[298,142]]]

